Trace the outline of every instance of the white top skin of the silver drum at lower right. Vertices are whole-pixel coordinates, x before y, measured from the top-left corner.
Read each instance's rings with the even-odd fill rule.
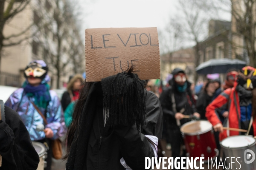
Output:
[[[255,139],[251,136],[239,135],[230,136],[221,141],[221,146],[230,148],[247,147],[248,145],[254,145]]]

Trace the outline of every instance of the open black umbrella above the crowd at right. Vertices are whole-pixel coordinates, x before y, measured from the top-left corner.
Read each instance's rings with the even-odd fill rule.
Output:
[[[215,74],[226,73],[230,68],[241,69],[246,66],[246,62],[239,59],[210,59],[207,62],[203,62],[195,68],[198,74]]]

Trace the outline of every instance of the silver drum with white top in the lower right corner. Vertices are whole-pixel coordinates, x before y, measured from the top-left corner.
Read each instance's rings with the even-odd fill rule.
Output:
[[[239,135],[223,139],[221,141],[221,147],[224,151],[224,157],[227,158],[227,168],[231,164],[230,158],[234,157],[232,160],[233,169],[239,169],[241,167],[241,170],[256,170],[256,161],[254,161],[256,154],[255,144],[256,141],[252,136]]]

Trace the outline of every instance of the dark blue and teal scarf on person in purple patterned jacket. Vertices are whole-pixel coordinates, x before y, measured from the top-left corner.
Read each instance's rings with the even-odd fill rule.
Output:
[[[51,101],[49,85],[47,83],[34,87],[28,82],[24,82],[22,87],[27,97],[35,98],[35,105],[37,105],[38,108],[47,108],[49,101]]]

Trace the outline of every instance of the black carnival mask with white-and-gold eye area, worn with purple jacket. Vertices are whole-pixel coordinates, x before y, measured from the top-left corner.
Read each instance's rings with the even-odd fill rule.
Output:
[[[44,79],[44,77],[47,75],[48,67],[47,66],[42,66],[37,62],[31,62],[29,65],[26,67],[24,71],[24,76],[26,78],[28,77],[37,77],[40,79]]]

